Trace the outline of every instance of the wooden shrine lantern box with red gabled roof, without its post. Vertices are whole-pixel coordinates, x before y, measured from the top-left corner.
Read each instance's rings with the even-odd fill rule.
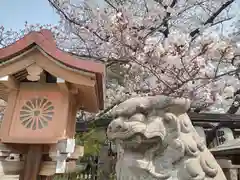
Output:
[[[73,138],[79,109],[103,109],[103,64],[57,49],[48,30],[0,49],[0,98],[8,102],[3,143],[55,144]]]

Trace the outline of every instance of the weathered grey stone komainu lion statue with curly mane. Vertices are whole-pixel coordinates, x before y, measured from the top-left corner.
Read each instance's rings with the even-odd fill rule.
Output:
[[[226,180],[194,129],[187,99],[138,97],[113,110],[117,180]]]

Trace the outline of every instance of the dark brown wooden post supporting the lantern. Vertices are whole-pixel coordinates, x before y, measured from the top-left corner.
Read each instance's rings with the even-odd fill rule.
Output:
[[[29,145],[20,180],[39,180],[38,173],[42,161],[42,145]]]

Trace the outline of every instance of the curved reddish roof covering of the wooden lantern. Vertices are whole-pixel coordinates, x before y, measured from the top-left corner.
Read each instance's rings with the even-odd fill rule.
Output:
[[[48,55],[56,59],[57,61],[65,64],[66,66],[72,67],[74,69],[79,69],[87,72],[92,72],[96,74],[98,91],[100,99],[103,100],[103,78],[105,72],[105,65],[102,63],[97,63],[90,60],[83,60],[72,56],[71,54],[64,52],[57,48],[55,40],[51,31],[41,30],[33,31],[24,36],[23,38],[16,41],[5,48],[0,49],[0,63],[1,61],[6,61],[11,59],[15,55],[18,55],[25,49],[31,47],[32,45],[38,45],[42,50],[44,50]],[[102,103],[102,102],[101,102]]]

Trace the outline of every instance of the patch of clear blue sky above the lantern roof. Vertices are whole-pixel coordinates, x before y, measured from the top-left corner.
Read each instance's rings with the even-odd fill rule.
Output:
[[[24,28],[29,24],[57,24],[59,16],[47,0],[0,0],[0,26],[6,29]]]

